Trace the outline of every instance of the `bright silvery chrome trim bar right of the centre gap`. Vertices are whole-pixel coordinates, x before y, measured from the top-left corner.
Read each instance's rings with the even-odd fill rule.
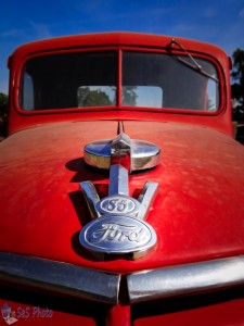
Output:
[[[164,267],[127,276],[130,303],[244,284],[244,256]]]

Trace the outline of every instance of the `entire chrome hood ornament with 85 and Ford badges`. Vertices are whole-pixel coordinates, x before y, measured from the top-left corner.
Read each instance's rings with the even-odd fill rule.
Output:
[[[102,140],[85,147],[87,164],[110,168],[108,196],[100,199],[91,181],[80,183],[93,221],[79,235],[81,246],[95,254],[127,255],[138,259],[156,243],[156,234],[144,222],[158,188],[145,183],[138,199],[129,196],[128,175],[132,171],[154,167],[160,150],[153,143],[131,140],[119,123],[114,140]]]

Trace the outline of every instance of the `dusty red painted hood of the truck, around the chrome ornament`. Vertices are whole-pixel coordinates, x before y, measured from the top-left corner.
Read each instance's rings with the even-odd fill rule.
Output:
[[[244,253],[244,148],[206,127],[126,122],[133,139],[162,149],[156,168],[130,176],[130,195],[146,180],[159,191],[146,220],[155,250],[138,261],[97,261],[78,242],[89,212],[79,183],[106,196],[108,175],[88,170],[82,149],[116,136],[116,122],[52,124],[0,145],[0,251],[132,272]]]

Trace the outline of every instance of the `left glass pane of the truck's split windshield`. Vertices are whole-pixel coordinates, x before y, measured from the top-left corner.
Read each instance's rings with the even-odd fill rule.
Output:
[[[30,60],[21,97],[25,110],[114,105],[115,51],[73,53]]]

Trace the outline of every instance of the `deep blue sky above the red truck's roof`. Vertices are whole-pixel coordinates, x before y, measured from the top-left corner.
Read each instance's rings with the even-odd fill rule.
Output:
[[[0,4],[0,92],[8,57],[22,43],[62,35],[141,32],[244,49],[243,0],[3,0]]]

